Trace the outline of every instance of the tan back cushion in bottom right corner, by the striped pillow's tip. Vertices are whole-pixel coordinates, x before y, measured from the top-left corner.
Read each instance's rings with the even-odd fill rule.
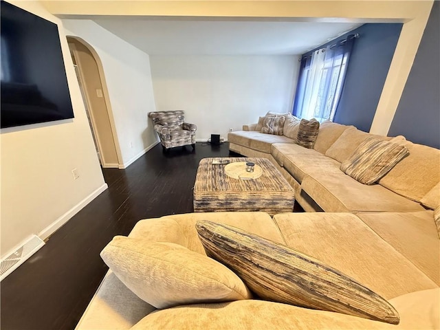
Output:
[[[440,289],[404,294],[390,303],[400,314],[397,329],[440,329]]]

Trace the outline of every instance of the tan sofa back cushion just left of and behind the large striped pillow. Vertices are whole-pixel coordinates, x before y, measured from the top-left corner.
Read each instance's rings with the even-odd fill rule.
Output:
[[[325,155],[342,163],[353,155],[353,152],[358,148],[359,144],[364,142],[368,137],[376,137],[379,140],[391,139],[391,137],[365,133],[351,126],[346,129],[340,137],[338,137],[338,140],[336,140],[330,148],[327,149]]]

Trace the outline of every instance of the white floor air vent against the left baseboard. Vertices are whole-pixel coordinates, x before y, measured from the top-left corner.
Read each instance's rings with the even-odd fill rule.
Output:
[[[32,254],[38,251],[44,245],[44,241],[41,241],[39,236],[32,236],[21,248],[12,252],[9,256],[1,259],[0,263],[0,281],[8,276],[19,265],[24,263]]]

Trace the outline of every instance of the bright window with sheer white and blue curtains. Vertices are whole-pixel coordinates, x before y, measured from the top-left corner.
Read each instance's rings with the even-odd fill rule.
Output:
[[[316,118],[320,122],[333,120],[354,38],[355,35],[351,34],[335,45],[301,58],[294,115],[305,119]]]

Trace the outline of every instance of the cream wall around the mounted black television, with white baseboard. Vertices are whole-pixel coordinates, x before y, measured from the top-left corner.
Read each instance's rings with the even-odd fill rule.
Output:
[[[32,234],[47,238],[107,188],[61,21],[39,3],[10,2],[58,24],[75,118],[1,130],[2,257]]]

